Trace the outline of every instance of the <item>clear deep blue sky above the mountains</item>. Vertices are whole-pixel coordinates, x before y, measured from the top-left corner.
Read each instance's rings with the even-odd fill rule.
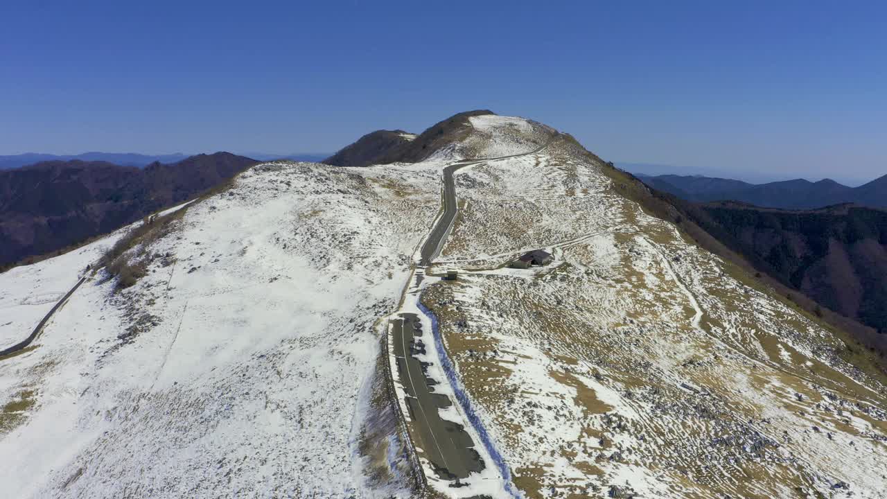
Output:
[[[616,162],[861,181],[883,5],[7,2],[0,154],[326,152],[490,108]]]

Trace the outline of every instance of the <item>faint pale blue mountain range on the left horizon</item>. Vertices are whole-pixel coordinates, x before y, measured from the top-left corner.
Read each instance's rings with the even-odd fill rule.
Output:
[[[292,154],[272,154],[272,153],[245,153],[240,154],[259,161],[271,161],[279,159],[287,159],[304,162],[321,162],[330,155],[330,153],[292,153]],[[0,155],[0,170],[10,170],[19,168],[29,164],[47,161],[72,161],[79,160],[83,162],[111,162],[120,166],[136,166],[138,168],[147,166],[153,162],[180,162],[187,158],[189,154],[137,154],[137,153],[100,153],[90,152],[82,154],[44,154],[44,153],[25,153]]]

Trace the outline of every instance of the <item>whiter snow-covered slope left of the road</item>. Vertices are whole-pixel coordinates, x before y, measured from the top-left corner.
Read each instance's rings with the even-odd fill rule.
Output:
[[[281,163],[189,207],[135,287],[113,294],[99,273],[3,361],[4,397],[35,399],[0,440],[4,494],[372,495],[354,454],[373,324],[436,203],[434,165]],[[67,285],[94,254],[27,270]]]

